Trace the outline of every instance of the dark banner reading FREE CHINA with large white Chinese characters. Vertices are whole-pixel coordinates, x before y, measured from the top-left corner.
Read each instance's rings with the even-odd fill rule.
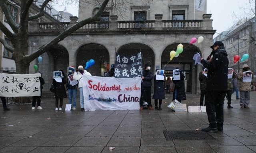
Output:
[[[141,52],[135,55],[122,56],[116,53],[115,71],[116,78],[142,77]]]

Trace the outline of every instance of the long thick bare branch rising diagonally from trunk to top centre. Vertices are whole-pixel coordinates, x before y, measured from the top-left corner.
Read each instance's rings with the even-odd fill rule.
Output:
[[[52,41],[50,41],[49,43],[47,43],[46,45],[44,45],[43,47],[38,49],[36,52],[31,53],[30,55],[25,55],[24,56],[24,61],[26,61],[27,63],[30,63],[31,61],[36,59],[36,57],[38,57],[41,54],[43,54],[44,52],[48,51],[52,47],[52,45],[57,44],[58,42],[62,41],[65,37],[70,35],[70,33],[73,33],[74,31],[76,31],[77,29],[79,29],[80,27],[82,27],[86,24],[89,24],[89,23],[94,22],[94,21],[99,21],[100,16],[103,14],[104,9],[106,8],[106,5],[108,4],[108,1],[109,0],[104,0],[102,5],[100,6],[99,11],[94,16],[86,18],[86,19],[76,23],[74,26],[69,27],[68,29],[66,29],[65,31],[60,33],[57,37],[52,39]]]

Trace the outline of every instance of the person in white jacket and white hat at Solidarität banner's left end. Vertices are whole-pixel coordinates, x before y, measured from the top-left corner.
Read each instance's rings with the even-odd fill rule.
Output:
[[[91,73],[87,72],[86,70],[84,70],[84,67],[82,65],[80,65],[78,67],[78,72],[75,72],[73,75],[73,79],[74,80],[78,80],[78,88],[79,88],[79,92],[80,92],[80,106],[81,106],[81,111],[84,112],[84,94],[83,94],[83,83],[82,83],[82,76],[83,75],[90,75]]]

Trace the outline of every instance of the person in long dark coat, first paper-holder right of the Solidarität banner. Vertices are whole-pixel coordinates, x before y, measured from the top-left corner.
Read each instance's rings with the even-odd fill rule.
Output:
[[[158,71],[160,69],[156,69]],[[165,76],[165,75],[164,75]],[[161,104],[162,100],[165,99],[165,93],[164,93],[164,80],[156,80],[156,75],[154,75],[154,94],[153,99],[155,99],[155,109],[156,110],[162,110]],[[159,106],[158,101],[159,100]]]

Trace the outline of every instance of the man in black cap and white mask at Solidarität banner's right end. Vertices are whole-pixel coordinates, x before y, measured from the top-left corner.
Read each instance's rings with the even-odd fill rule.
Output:
[[[151,86],[153,79],[153,73],[150,72],[150,64],[145,64],[145,70],[143,72],[142,83],[141,83],[141,96],[140,96],[140,110],[143,110],[144,100],[148,102],[148,109],[154,110],[151,105]]]

